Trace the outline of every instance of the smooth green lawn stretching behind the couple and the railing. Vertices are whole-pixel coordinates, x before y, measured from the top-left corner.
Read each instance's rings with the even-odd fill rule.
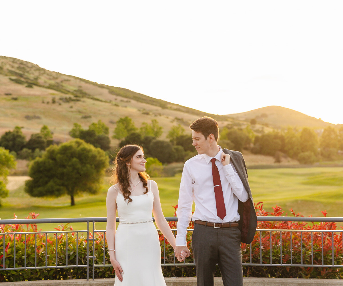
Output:
[[[254,202],[263,202],[263,208],[281,206],[285,214],[289,209],[304,216],[343,216],[343,167],[250,169],[249,183]],[[178,201],[181,175],[169,178],[152,178],[159,187],[162,209],[165,216],[173,216]],[[105,217],[108,178],[104,179],[102,190],[97,195],[76,197],[76,205],[70,206],[68,196],[60,198],[33,198],[20,186],[2,199],[0,218],[25,218],[30,212],[39,213],[38,218],[60,217]],[[72,224],[75,229],[85,229],[85,224]],[[46,226],[40,226],[46,229]],[[55,226],[54,226],[55,227]],[[104,223],[97,223],[97,229],[104,229]]]

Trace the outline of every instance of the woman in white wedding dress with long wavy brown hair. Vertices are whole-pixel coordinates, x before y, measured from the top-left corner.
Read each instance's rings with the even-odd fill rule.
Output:
[[[107,192],[106,240],[115,286],[165,286],[161,268],[161,246],[156,227],[175,249],[175,237],[164,218],[158,187],[145,173],[143,148],[122,147],[113,173],[115,185]],[[120,223],[116,231],[116,212]],[[181,253],[184,261],[186,253]]]

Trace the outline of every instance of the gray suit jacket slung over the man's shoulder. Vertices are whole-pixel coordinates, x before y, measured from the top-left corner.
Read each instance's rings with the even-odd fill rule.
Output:
[[[237,174],[249,195],[249,199],[245,203],[238,201],[238,213],[240,215],[238,227],[241,232],[241,242],[249,244],[252,242],[255,236],[257,227],[257,216],[248,182],[247,167],[245,165],[245,161],[241,152],[228,149],[223,149],[223,152],[230,155],[230,161],[234,165]]]

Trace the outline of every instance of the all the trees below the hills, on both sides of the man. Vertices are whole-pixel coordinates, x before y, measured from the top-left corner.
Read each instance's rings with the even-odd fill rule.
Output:
[[[0,197],[8,195],[5,183],[9,170],[15,167],[15,158],[33,160],[28,173],[32,179],[26,181],[25,192],[35,197],[67,194],[74,205],[78,193],[99,190],[104,170],[115,158],[116,151],[126,144],[144,148],[148,157],[146,169],[152,176],[161,175],[162,164],[184,162],[197,155],[190,132],[186,133],[181,124],[169,130],[167,140],[159,139],[162,133],[163,128],[156,119],[143,122],[138,128],[132,118],[122,117],[112,135],[119,140],[119,145],[111,150],[109,128],[101,120],[90,124],[88,129],[74,123],[69,131],[74,139],[62,144],[52,140],[53,133],[46,125],[27,141],[22,127],[16,126],[0,137]],[[222,148],[274,156],[275,162],[288,156],[308,164],[338,158],[338,151],[343,150],[343,127],[339,130],[327,127],[320,132],[306,127],[288,128],[256,135],[250,126],[243,129],[226,126],[220,130],[218,144]]]

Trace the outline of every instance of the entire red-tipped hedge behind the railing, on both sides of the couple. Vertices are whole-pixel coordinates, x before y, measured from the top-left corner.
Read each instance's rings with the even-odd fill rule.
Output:
[[[175,216],[176,209],[175,208]],[[263,209],[262,203],[256,205],[258,216],[282,216],[284,211],[274,207],[273,212]],[[295,214],[291,209],[292,215]],[[326,216],[326,212],[322,212]],[[37,218],[38,214],[31,213],[27,218]],[[16,217],[14,217],[16,218]],[[0,221],[1,222],[1,221]],[[172,229],[176,229],[176,222],[169,222]],[[193,229],[191,222],[189,229]],[[342,279],[343,269],[340,267],[312,267],[312,266],[276,266],[272,264],[334,264],[342,265],[342,230],[335,232],[335,222],[292,222],[292,221],[260,221],[255,238],[250,245],[242,244],[243,263],[263,265],[244,265],[245,277],[299,277],[299,278],[338,278]],[[85,265],[87,263],[87,233],[74,231],[68,225],[55,228],[55,233],[39,233],[37,224],[0,224],[0,269],[33,266],[57,265]],[[292,230],[292,231],[282,231]],[[300,230],[305,230],[300,232]],[[281,231],[281,233],[280,233]],[[23,232],[38,232],[27,233]],[[68,233],[67,233],[68,232]],[[3,233],[15,233],[6,234]],[[312,234],[311,234],[312,233]],[[187,234],[187,246],[191,250],[192,232]],[[89,239],[93,239],[90,233]],[[94,233],[95,264],[110,264],[107,248],[104,251],[104,232]],[[160,233],[161,261],[164,262],[164,237]],[[105,242],[106,243],[106,242]],[[332,243],[334,247],[332,248]],[[15,246],[14,246],[15,245]],[[37,247],[35,248],[35,245]],[[76,245],[78,247],[76,247]],[[106,245],[106,244],[105,244]],[[14,259],[15,249],[15,259]],[[333,251],[332,251],[333,249]],[[67,251],[68,250],[68,251]],[[77,255],[76,255],[77,251]],[[251,258],[250,258],[251,252]],[[332,262],[332,252],[334,259]],[[93,256],[92,240],[90,240],[89,256]],[[313,255],[312,255],[313,253]],[[165,262],[174,263],[174,250],[165,241]],[[105,257],[104,257],[105,255]],[[3,261],[5,264],[3,265]],[[163,266],[165,277],[195,277],[195,266]],[[186,259],[186,263],[193,263],[193,256]],[[89,277],[92,277],[93,260],[90,259]],[[220,276],[217,268],[216,276]],[[85,267],[26,269],[26,270],[0,270],[0,282],[56,280],[56,279],[85,279]],[[112,267],[95,267],[95,278],[115,277]]]

